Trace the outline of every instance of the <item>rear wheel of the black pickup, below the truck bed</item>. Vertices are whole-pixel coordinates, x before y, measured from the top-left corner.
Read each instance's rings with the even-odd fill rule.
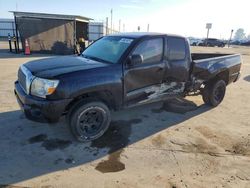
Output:
[[[216,107],[223,101],[225,93],[225,81],[217,80],[205,85],[205,88],[202,91],[202,99],[205,104]]]

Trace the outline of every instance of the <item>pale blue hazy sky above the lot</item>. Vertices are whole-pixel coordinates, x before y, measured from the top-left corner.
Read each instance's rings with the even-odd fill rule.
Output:
[[[249,0],[0,0],[0,18],[13,18],[11,10],[81,15],[105,21],[113,9],[118,30],[162,32],[185,37],[206,37],[206,23],[212,23],[209,37],[228,39],[231,30],[243,28],[250,34]],[[110,23],[110,22],[109,22]]]

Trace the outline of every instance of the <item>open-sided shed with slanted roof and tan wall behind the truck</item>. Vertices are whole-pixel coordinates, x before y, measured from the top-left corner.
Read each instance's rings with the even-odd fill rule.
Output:
[[[76,15],[17,12],[16,29],[24,49],[27,39],[32,52],[73,54],[80,38],[88,40],[91,18]]]

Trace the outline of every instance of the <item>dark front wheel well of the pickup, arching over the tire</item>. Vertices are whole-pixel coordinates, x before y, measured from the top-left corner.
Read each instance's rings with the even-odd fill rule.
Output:
[[[112,93],[109,91],[98,91],[98,92],[85,93],[83,95],[75,97],[74,100],[71,101],[67,105],[64,113],[66,114],[72,106],[74,106],[75,104],[77,104],[78,102],[80,102],[82,100],[86,100],[87,98],[89,98],[91,100],[99,100],[99,101],[103,102],[104,104],[106,104],[108,106],[108,108],[111,110],[116,109],[115,101],[114,101],[114,97],[113,97]]]

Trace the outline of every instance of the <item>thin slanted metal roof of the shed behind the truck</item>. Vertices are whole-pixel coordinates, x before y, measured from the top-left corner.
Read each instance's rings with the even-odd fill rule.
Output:
[[[81,22],[89,22],[90,20],[93,20],[92,18],[78,16],[78,15],[48,14],[48,13],[19,12],[19,11],[10,11],[10,12],[12,12],[16,17],[77,20]]]

